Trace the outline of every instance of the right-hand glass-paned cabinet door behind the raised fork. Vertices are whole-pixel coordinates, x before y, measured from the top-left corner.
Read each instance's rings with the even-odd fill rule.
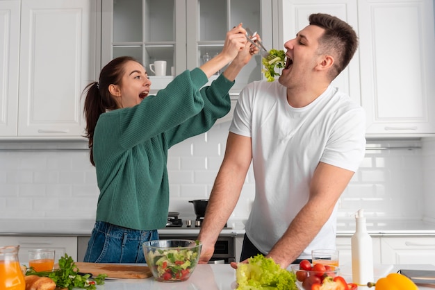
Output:
[[[262,0],[186,0],[187,13],[187,65],[192,69],[202,65],[208,58],[213,58],[222,51],[227,32],[242,23],[253,32],[261,35],[263,44],[270,46],[268,37],[272,34],[271,16],[267,16],[270,1]],[[265,8],[265,9],[264,9]],[[262,11],[265,10],[264,13]],[[265,17],[270,23],[263,24]],[[270,45],[268,45],[270,44]],[[261,80],[261,56],[254,58],[243,68],[233,89],[240,89],[253,80]],[[212,77],[213,79],[213,77]]]

